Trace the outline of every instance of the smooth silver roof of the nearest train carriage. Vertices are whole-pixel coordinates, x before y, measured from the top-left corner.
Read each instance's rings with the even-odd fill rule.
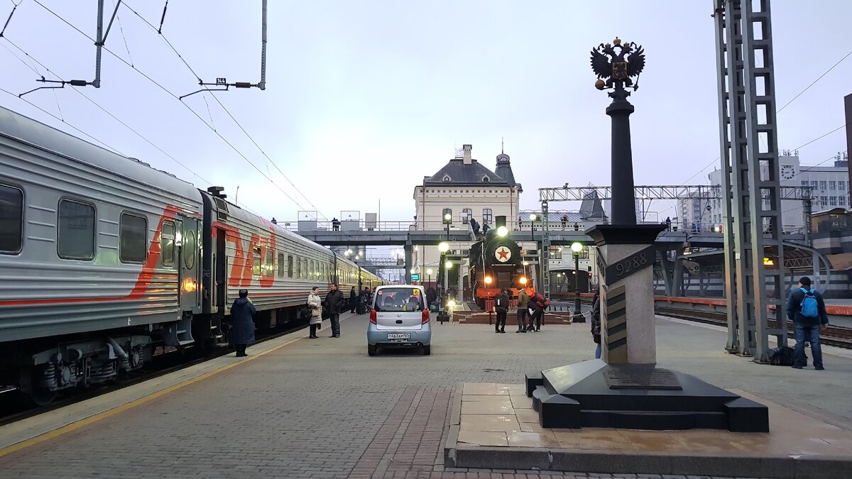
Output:
[[[190,182],[138,159],[132,159],[99,147],[48,124],[0,107],[0,136],[20,141],[43,151],[140,182],[149,188],[199,201],[198,190]]]

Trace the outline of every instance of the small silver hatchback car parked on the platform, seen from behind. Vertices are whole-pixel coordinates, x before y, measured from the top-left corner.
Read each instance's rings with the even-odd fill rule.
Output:
[[[380,347],[419,347],[432,354],[432,326],[426,291],[417,285],[378,286],[370,308],[367,326],[367,354]]]

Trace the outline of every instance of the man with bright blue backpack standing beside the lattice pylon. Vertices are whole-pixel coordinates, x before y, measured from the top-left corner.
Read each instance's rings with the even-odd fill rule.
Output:
[[[826,303],[820,291],[810,287],[810,278],[803,276],[798,289],[787,298],[787,319],[793,322],[793,334],[796,337],[796,349],[793,352],[793,366],[802,369],[805,365],[804,343],[810,342],[810,351],[814,355],[814,369],[822,371],[822,348],[820,331],[828,326]]]

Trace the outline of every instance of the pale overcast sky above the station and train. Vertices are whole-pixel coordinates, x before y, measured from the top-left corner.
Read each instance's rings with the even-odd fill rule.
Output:
[[[3,2],[5,22],[14,5]],[[38,2],[95,36],[95,0]],[[129,7],[158,26],[163,4],[130,0]],[[108,21],[112,0],[106,5]],[[164,38],[204,81],[256,83],[260,5],[170,2]],[[852,2],[776,0],[772,6],[780,108],[849,54]],[[523,209],[538,206],[538,188],[609,184],[609,99],[594,88],[589,51],[616,36],[641,43],[647,55],[641,88],[630,97],[636,106],[636,184],[706,183],[717,164],[711,0],[269,0],[267,89],[193,95],[184,99],[186,107],[164,89],[186,95],[199,89],[197,78],[123,5],[107,48],[164,89],[104,52],[101,89],[39,90],[24,97],[67,124],[16,96],[43,86],[34,81],[37,73],[57,78],[43,66],[66,80],[94,78],[92,42],[48,9],[21,0],[0,38],[0,88],[15,94],[0,93],[0,105],[81,136],[67,126],[72,124],[199,188],[222,186],[231,199],[239,186],[239,204],[268,218],[293,220],[302,210],[328,218],[361,211],[363,217],[381,201],[383,221],[409,220],[413,188],[446,164],[454,148],[471,143],[474,158],[493,170],[501,137],[525,188]],[[780,149],[799,147],[844,123],[850,77],[847,58],[779,114]],[[839,130],[799,153],[803,164],[819,164],[845,149]],[[659,210],[661,219],[674,216],[665,206],[650,210]]]

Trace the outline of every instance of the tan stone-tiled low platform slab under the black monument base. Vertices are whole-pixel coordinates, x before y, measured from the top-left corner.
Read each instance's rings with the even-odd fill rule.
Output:
[[[543,428],[524,384],[465,383],[456,389],[445,458],[456,466],[523,464],[543,470],[585,465],[602,472],[714,470],[815,479],[847,479],[852,473],[852,430],[732,392],[769,407],[769,433]]]

